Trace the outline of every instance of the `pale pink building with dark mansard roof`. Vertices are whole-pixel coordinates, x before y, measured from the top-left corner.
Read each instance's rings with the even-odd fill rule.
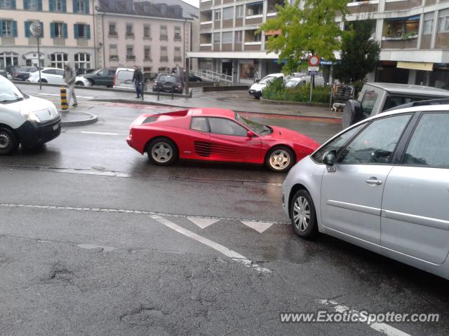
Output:
[[[186,54],[194,48],[193,31],[199,31],[194,29],[199,27],[199,10],[182,1],[175,3],[100,0],[100,63],[138,64],[149,72],[185,67]],[[197,41],[198,35],[195,37]]]

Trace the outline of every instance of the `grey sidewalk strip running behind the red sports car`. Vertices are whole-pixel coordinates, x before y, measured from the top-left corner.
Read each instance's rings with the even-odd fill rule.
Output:
[[[119,98],[119,96],[125,96]],[[342,118],[341,112],[330,111],[328,107],[307,105],[283,105],[269,104],[250,97],[246,91],[227,92],[202,92],[201,88],[195,88],[192,98],[160,97],[146,94],[144,101],[130,99],[126,94],[117,94],[117,99],[94,99],[101,102],[119,102],[125,104],[158,104],[164,106],[175,106],[180,108],[215,107],[218,109],[231,109],[248,113],[279,114],[283,116],[306,116],[315,118]]]

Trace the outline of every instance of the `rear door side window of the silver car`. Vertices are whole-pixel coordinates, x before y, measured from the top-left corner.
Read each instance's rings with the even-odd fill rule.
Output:
[[[449,113],[424,113],[406,154],[404,165],[449,168]]]

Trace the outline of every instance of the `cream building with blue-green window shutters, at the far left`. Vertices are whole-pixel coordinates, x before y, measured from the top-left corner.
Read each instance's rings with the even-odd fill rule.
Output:
[[[95,67],[92,0],[0,0],[0,68],[38,64],[37,40],[29,33],[41,22],[41,66]]]

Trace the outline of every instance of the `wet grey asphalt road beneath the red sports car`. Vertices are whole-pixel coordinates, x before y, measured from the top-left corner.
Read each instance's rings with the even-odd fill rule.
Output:
[[[155,167],[124,139],[140,113],[167,108],[80,107],[100,121],[0,158],[0,335],[448,335],[447,281],[331,237],[298,239],[283,174]],[[341,127],[253,117],[318,141]],[[441,316],[384,331],[279,322],[342,306]]]

